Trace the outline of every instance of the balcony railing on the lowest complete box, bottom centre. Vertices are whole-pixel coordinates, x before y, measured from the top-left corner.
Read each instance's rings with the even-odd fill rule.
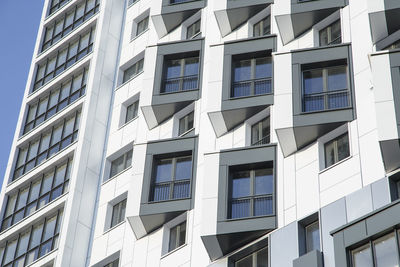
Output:
[[[252,216],[272,215],[272,195],[263,195],[231,200],[231,219],[246,218]]]

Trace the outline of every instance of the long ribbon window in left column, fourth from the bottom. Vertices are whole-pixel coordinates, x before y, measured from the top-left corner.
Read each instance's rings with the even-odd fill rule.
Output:
[[[83,96],[86,91],[87,71],[84,69],[82,73],[62,83],[61,87],[39,98],[35,103],[29,104],[23,133],[31,131]]]

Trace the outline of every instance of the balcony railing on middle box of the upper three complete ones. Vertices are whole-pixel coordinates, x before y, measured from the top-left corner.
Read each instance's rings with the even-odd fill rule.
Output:
[[[272,92],[271,84],[271,78],[234,82],[232,85],[231,97],[236,98],[270,94]]]

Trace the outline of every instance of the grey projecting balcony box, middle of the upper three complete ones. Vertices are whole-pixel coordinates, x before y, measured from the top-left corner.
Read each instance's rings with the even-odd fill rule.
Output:
[[[274,103],[275,50],[275,35],[224,44],[221,106],[208,113],[217,137]]]

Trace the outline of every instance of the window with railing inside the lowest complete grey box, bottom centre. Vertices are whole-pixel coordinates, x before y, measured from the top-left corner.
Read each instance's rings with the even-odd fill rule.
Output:
[[[273,214],[272,168],[231,169],[230,177],[229,219]]]

